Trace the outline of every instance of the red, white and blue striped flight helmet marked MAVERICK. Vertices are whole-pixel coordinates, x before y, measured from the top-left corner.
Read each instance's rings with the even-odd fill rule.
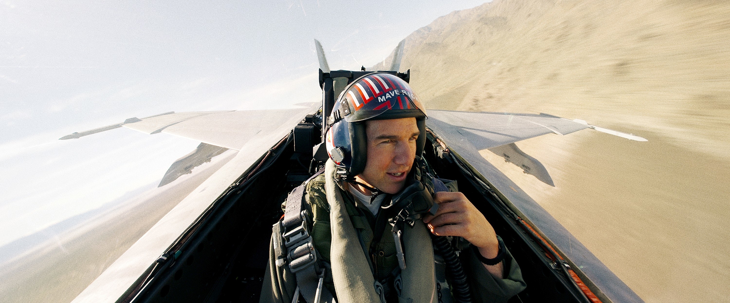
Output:
[[[416,157],[420,157],[426,144],[426,109],[410,85],[385,72],[366,74],[348,84],[327,118],[327,154],[339,168],[339,176],[353,178],[365,169],[367,120],[410,117],[416,118],[420,130],[416,141]]]

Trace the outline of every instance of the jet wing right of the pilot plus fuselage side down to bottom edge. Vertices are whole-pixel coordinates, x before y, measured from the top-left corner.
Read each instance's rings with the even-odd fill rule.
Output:
[[[539,135],[556,133],[566,135],[578,130],[592,128],[603,133],[618,135],[635,141],[647,141],[637,135],[589,125],[583,120],[569,120],[548,114],[510,114],[464,111],[429,111],[426,120],[439,140],[445,143],[448,152],[453,152],[478,173],[496,194],[508,201],[510,208],[521,219],[531,222],[539,232],[550,240],[553,247],[565,254],[580,268],[596,288],[599,288],[612,302],[643,302],[631,291],[602,261],[585,248],[565,227],[563,227],[542,206],[532,200],[510,178],[504,176],[496,167],[484,159],[479,150],[489,149],[504,157],[526,173],[536,176],[540,181],[552,184],[547,170],[533,157],[524,154],[515,142]],[[445,153],[444,149],[438,151]],[[441,157],[440,154],[437,154]],[[554,185],[553,185],[554,186]]]

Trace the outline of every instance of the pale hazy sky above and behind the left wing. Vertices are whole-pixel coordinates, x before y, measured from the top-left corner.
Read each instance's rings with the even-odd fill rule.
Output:
[[[155,186],[198,142],[120,128],[166,111],[319,101],[435,18],[484,1],[0,1],[0,246]]]

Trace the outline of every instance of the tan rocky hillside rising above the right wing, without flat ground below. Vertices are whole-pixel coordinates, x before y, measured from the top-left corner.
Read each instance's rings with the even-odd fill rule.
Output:
[[[729,39],[726,1],[495,0],[408,36],[401,70],[433,109],[626,124],[730,159]]]

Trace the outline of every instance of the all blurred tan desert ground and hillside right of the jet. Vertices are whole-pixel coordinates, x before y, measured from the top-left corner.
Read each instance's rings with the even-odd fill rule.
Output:
[[[730,302],[729,41],[727,1],[495,0],[408,36],[401,70],[431,109],[545,112],[648,138],[518,143],[555,187],[483,155],[646,302]]]

